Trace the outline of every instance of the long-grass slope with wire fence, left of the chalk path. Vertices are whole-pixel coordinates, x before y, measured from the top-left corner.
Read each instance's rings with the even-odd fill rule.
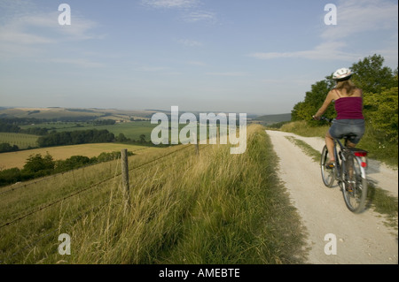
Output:
[[[226,145],[203,145],[200,157],[193,146],[130,157],[130,168],[140,166],[129,175],[130,208],[116,162],[12,190],[0,197],[0,226],[109,179],[0,227],[0,261],[302,263],[299,217],[276,161],[263,127],[250,126],[242,155],[231,155]],[[60,233],[71,235],[72,255],[59,255]]]

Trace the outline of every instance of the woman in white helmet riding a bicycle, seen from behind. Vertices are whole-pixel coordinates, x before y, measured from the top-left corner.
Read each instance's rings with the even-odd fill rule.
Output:
[[[330,103],[335,102],[337,118],[332,122],[332,126],[325,133],[325,145],[330,156],[327,168],[333,168],[335,158],[333,154],[333,139],[342,139],[349,135],[347,146],[355,148],[356,144],[364,135],[364,116],[363,116],[363,91],[356,88],[350,80],[352,72],[348,68],[340,68],[333,73],[332,79],[337,82],[325,98],[325,102],[313,118],[319,120],[325,113]]]

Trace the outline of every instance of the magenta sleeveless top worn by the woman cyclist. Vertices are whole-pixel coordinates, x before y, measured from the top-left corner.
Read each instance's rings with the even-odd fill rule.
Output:
[[[341,97],[335,101],[337,119],[364,119],[362,97]]]

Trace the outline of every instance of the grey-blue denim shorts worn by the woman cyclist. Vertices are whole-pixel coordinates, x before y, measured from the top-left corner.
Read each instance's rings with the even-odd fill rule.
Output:
[[[364,119],[334,119],[329,130],[332,138],[342,139],[357,144],[364,135]]]

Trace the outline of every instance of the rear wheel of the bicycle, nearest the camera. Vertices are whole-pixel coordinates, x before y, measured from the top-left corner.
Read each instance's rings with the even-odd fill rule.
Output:
[[[362,173],[361,161],[348,154],[347,161],[342,162],[342,194],[350,211],[360,213],[364,210],[367,197],[367,179]],[[353,172],[350,172],[353,171]]]

